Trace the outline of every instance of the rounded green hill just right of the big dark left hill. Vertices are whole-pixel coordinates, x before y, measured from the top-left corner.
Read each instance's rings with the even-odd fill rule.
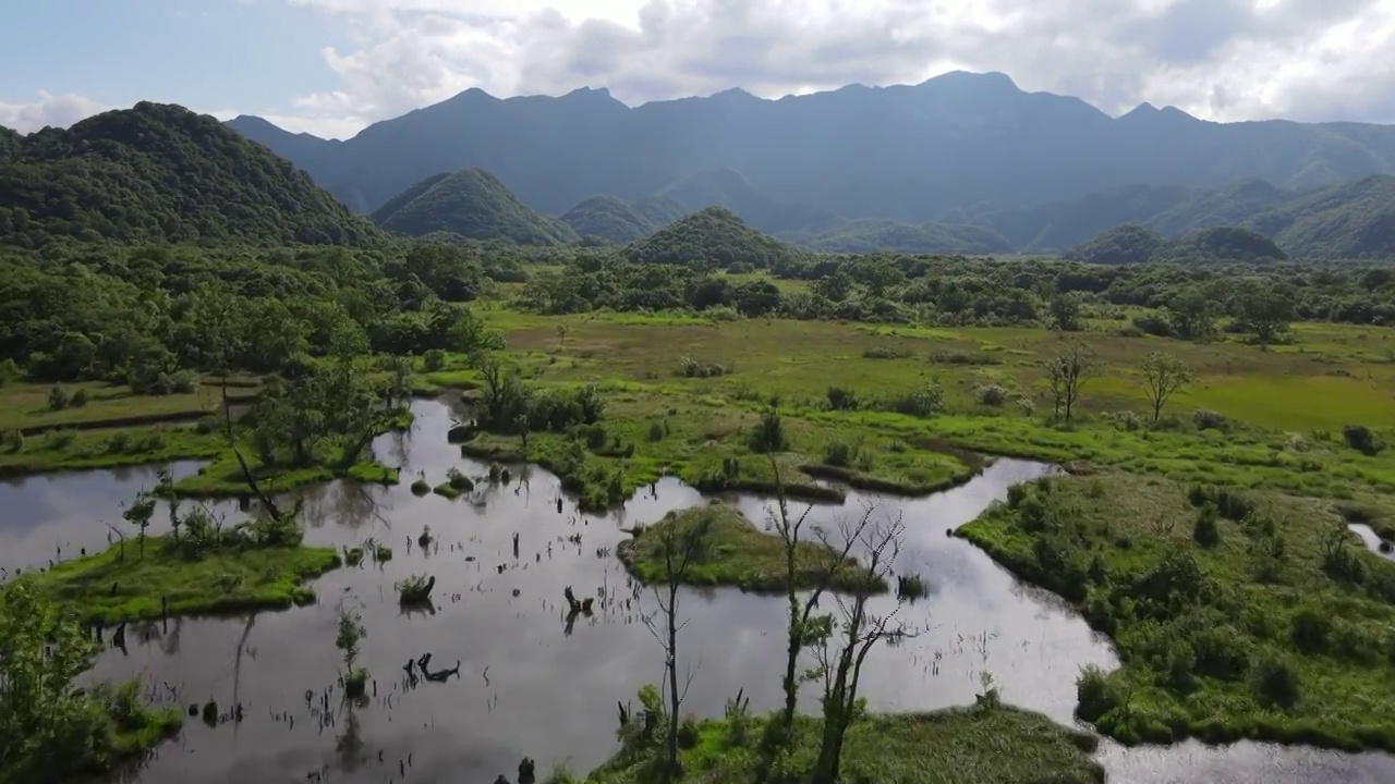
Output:
[[[374,220],[412,237],[448,232],[519,246],[559,246],[579,239],[566,223],[529,209],[483,169],[432,174],[388,199]]]

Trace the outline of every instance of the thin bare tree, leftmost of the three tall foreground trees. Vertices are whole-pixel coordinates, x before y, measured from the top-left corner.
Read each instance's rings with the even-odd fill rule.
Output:
[[[658,610],[640,618],[658,644],[664,646],[664,675],[668,681],[667,770],[672,778],[682,774],[678,762],[678,709],[688,698],[688,686],[693,681],[693,670],[689,667],[682,689],[678,688],[678,632],[688,625],[686,621],[678,621],[678,590],[688,580],[689,566],[702,562],[710,529],[711,516],[698,513],[692,518],[675,516],[646,534],[658,537],[664,564],[663,590],[660,586],[653,589]],[[660,614],[661,621],[657,618]]]

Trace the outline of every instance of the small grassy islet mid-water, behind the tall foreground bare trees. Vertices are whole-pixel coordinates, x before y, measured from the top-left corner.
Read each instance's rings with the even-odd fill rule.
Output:
[[[668,532],[670,527],[675,530]],[[784,543],[778,536],[756,529],[739,511],[720,502],[670,512],[651,526],[635,529],[633,538],[622,541],[615,554],[639,580],[658,583],[665,579],[665,537],[684,537],[695,529],[700,529],[702,536],[684,572],[685,583],[737,586],[763,593],[784,590]],[[848,568],[840,568],[836,564],[838,557],[840,548],[831,544],[801,541],[795,550],[797,587],[816,587],[819,580],[833,575],[833,587],[837,590],[887,590],[886,582],[880,579],[869,586],[864,579],[865,573],[857,569],[855,559],[848,559]]]

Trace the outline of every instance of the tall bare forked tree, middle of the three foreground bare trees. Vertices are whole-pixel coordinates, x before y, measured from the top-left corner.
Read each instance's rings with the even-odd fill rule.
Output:
[[[812,642],[816,642],[820,636],[819,628],[827,628],[826,621],[819,621],[813,617],[813,610],[819,605],[819,598],[829,590],[833,585],[834,578],[841,573],[845,568],[855,568],[850,565],[848,555],[852,548],[858,544],[864,532],[872,520],[872,508],[864,511],[862,516],[854,522],[844,523],[841,526],[844,541],[841,547],[833,547],[833,554],[830,554],[824,568],[815,575],[815,579],[806,585],[808,593],[804,598],[799,597],[799,533],[804,530],[805,522],[809,518],[809,512],[813,511],[813,505],[805,506],[804,512],[798,518],[790,513],[790,497],[785,492],[784,478],[780,473],[780,463],[774,456],[770,458],[770,469],[774,472],[776,484],[776,511],[771,515],[771,526],[780,536],[781,545],[784,548],[785,561],[785,600],[790,603],[790,625],[787,628],[788,646],[785,649],[785,674],[784,674],[784,693],[785,704],[780,714],[780,721],[785,732],[794,728],[794,714],[799,700],[799,651],[808,647]]]

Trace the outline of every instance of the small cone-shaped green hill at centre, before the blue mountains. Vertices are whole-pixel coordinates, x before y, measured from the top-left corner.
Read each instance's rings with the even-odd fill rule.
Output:
[[[625,255],[635,262],[771,268],[802,254],[746,226],[730,209],[709,206],[633,243]]]

